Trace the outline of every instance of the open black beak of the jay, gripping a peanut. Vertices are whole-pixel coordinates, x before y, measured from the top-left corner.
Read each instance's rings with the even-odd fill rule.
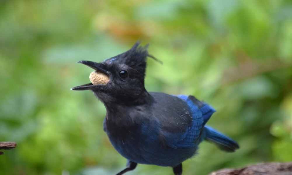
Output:
[[[91,68],[93,68],[96,71],[100,71],[106,75],[109,75],[109,71],[107,70],[107,67],[105,66],[105,64],[103,63],[95,63],[93,61],[78,61],[77,63],[82,63],[85,64],[86,66],[89,66]],[[71,90],[77,90],[77,91],[82,91],[82,90],[90,90],[95,88],[96,86],[103,86],[104,84],[92,84],[92,83],[88,83],[88,84],[84,84],[81,86],[76,86],[71,88]]]

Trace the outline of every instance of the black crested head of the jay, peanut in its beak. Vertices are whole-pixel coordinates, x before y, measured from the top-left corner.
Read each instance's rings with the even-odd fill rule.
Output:
[[[77,63],[85,64],[95,71],[89,77],[91,83],[71,90],[92,90],[104,103],[141,98],[147,93],[144,87],[146,58],[148,56],[159,60],[148,54],[148,45],[142,47],[139,44],[140,42],[136,42],[130,50],[100,63],[78,61]]]

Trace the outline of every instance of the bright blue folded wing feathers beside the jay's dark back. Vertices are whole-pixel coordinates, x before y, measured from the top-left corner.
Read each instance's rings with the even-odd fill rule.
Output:
[[[180,138],[173,140],[175,142],[172,142],[170,146],[176,149],[190,149],[204,139],[200,137],[201,131],[211,115],[215,112],[215,109],[194,96],[179,95],[178,97],[187,103],[192,115],[192,122],[186,128],[185,132],[180,135]]]

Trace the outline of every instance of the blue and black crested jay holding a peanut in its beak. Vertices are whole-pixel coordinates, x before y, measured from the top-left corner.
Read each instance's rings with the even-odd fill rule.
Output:
[[[99,63],[78,61],[93,68],[94,76],[106,77],[106,81],[71,88],[91,90],[104,104],[107,112],[103,130],[112,146],[127,159],[126,167],[116,175],[134,170],[137,164],[172,167],[175,175],[181,175],[182,162],[197,153],[203,140],[223,151],[239,149],[233,139],[205,125],[215,112],[206,102],[192,95],[145,89],[147,57],[161,61],[148,53],[149,44],[140,43]]]

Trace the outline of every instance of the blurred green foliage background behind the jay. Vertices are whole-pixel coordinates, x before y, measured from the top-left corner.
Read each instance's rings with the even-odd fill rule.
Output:
[[[291,0],[1,0],[0,155],[4,175],[114,174],[126,160],[102,130],[92,69],[150,43],[148,91],[191,94],[217,112],[209,125],[237,140],[225,153],[204,142],[184,175],[292,160]],[[172,175],[138,165],[128,175]]]

